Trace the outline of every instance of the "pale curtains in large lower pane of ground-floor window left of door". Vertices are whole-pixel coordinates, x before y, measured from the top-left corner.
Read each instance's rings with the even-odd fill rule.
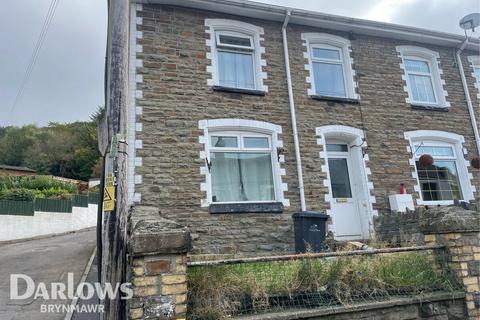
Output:
[[[213,202],[275,199],[270,153],[215,152],[211,161]]]

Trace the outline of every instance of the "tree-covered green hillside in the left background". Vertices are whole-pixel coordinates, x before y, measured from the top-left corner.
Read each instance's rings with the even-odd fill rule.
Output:
[[[38,174],[88,180],[99,176],[97,115],[88,122],[0,127],[0,164]]]

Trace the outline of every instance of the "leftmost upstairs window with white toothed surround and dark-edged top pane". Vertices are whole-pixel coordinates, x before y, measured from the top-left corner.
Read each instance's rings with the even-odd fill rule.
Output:
[[[266,65],[262,59],[265,49],[261,47],[263,29],[249,23],[226,20],[206,19],[210,39],[207,46],[210,52],[207,58],[211,65],[208,85],[214,88],[236,90],[268,91],[263,85],[267,74],[262,71]]]

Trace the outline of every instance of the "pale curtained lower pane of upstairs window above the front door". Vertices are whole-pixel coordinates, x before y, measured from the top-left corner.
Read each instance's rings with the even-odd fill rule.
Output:
[[[320,63],[313,64],[316,94],[324,96],[345,97],[345,83],[343,66],[341,64]]]

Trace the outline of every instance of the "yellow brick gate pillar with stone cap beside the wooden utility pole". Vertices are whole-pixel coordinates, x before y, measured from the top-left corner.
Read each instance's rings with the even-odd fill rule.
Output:
[[[130,220],[127,282],[133,298],[127,319],[185,319],[188,230],[160,218],[158,210],[137,207]]]

